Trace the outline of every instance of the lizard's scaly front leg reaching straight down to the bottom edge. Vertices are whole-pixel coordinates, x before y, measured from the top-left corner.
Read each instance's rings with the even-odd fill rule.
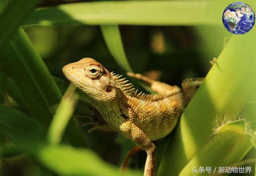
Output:
[[[156,172],[156,146],[134,123],[130,123],[130,135],[131,140],[147,153],[144,176],[154,176]]]

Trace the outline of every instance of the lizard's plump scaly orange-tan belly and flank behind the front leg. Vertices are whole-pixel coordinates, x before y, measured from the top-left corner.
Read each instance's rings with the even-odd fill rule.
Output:
[[[182,94],[165,98],[158,102],[142,102],[142,107],[134,119],[134,123],[149,137],[151,141],[168,135],[178,123],[186,104]]]

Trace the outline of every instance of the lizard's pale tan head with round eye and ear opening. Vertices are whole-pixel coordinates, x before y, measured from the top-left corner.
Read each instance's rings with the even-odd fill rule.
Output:
[[[91,100],[105,98],[102,101],[107,101],[115,96],[112,75],[92,58],[70,63],[62,68],[62,72],[70,83],[82,90]]]

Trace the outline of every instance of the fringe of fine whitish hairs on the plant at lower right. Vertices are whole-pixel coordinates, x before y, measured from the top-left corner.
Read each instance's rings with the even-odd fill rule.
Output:
[[[212,122],[212,130],[213,130],[212,135],[216,135],[220,131],[220,129],[224,127],[224,125],[227,125],[228,123],[232,123],[235,121],[240,121],[240,120],[244,120],[245,122],[244,131],[246,134],[250,135],[254,133],[254,131],[251,129],[252,121],[248,119],[248,115],[245,112],[241,114],[237,113],[235,115],[229,115],[227,111],[224,114],[224,117],[220,115],[215,115],[214,121]]]

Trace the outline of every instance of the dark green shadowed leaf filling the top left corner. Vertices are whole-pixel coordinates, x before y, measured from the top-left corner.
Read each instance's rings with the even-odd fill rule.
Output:
[[[0,47],[11,37],[28,14],[43,0],[14,0],[0,14]],[[3,8],[0,7],[0,8]],[[17,15],[18,14],[18,15]]]

